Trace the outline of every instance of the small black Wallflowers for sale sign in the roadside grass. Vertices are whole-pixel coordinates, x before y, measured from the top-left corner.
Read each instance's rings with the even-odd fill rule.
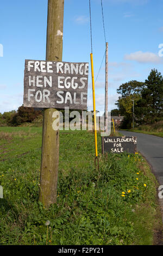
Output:
[[[103,153],[136,153],[136,137],[102,137]]]

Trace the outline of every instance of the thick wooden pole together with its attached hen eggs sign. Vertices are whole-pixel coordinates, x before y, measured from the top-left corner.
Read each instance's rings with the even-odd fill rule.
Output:
[[[57,202],[57,109],[87,109],[89,63],[62,62],[63,20],[64,0],[48,0],[46,61],[26,59],[24,68],[23,105],[44,108],[39,201],[46,207]]]

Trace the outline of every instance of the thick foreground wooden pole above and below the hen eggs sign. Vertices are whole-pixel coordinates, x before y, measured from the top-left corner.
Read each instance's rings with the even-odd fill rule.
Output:
[[[48,0],[46,60],[62,61],[64,0]],[[42,129],[42,156],[39,201],[45,206],[57,202],[59,130],[52,128],[54,108],[45,108]]]

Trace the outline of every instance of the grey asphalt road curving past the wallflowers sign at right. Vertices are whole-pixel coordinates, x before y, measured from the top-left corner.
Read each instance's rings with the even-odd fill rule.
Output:
[[[145,156],[159,184],[163,185],[163,138],[138,132],[120,132],[137,138],[137,151]]]

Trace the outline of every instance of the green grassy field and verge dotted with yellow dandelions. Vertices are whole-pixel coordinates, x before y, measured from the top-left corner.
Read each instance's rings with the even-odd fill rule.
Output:
[[[57,204],[39,198],[41,127],[0,127],[1,245],[153,245],[156,180],[140,154],[101,154],[94,135],[60,131]]]

